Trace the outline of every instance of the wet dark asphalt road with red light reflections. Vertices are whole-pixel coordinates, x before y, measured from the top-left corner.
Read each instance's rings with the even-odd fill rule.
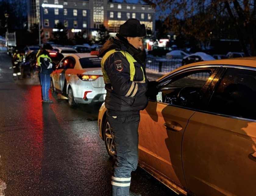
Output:
[[[101,104],[41,103],[38,78],[14,81],[0,51],[0,196],[110,196],[112,159],[98,136]],[[175,195],[141,168],[131,190]]]

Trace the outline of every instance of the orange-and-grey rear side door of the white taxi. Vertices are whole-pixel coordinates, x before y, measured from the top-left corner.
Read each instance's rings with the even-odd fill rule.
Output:
[[[66,93],[66,86],[67,86],[67,83],[69,82],[70,77],[74,73],[74,66],[76,64],[76,60],[73,57],[68,56],[64,58],[62,62],[63,62],[63,65],[62,65],[63,70],[59,74],[59,85],[60,85],[61,92]]]

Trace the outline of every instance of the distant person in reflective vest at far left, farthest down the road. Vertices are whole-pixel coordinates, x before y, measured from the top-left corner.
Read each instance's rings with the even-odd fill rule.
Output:
[[[20,72],[20,63],[25,60],[25,51],[17,51],[15,50],[14,54],[12,55],[12,68],[13,68],[13,79],[21,79],[21,72]]]

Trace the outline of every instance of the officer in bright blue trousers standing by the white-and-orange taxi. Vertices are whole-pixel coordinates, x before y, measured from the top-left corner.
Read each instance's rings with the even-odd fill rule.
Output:
[[[39,52],[37,56],[37,68],[40,83],[42,87],[42,99],[44,103],[53,103],[49,98],[49,89],[51,84],[50,74],[53,72],[52,59],[49,56],[49,52],[52,50],[50,44],[44,44],[43,51]]]

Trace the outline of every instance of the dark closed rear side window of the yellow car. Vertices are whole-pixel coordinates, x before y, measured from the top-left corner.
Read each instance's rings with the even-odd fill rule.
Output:
[[[256,72],[228,68],[216,87],[207,111],[256,120]]]

